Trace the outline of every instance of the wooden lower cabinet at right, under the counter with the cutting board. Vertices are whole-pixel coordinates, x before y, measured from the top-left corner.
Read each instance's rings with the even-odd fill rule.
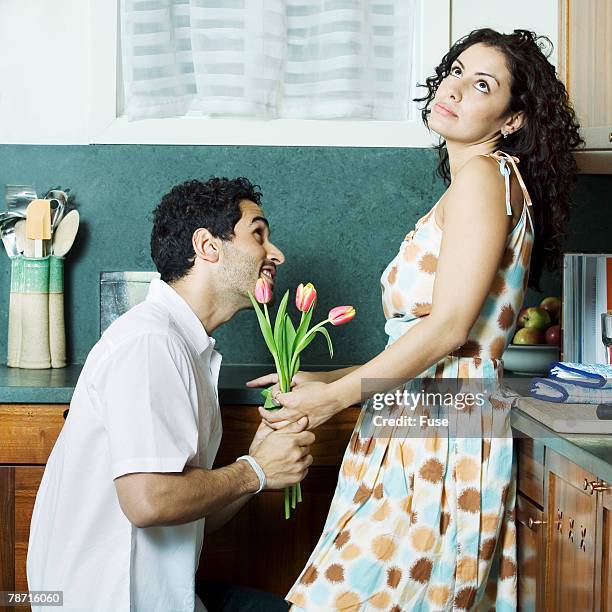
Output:
[[[612,612],[612,488],[516,437],[519,610]]]

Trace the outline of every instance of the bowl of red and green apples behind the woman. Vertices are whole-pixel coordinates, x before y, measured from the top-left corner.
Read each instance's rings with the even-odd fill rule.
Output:
[[[521,308],[512,342],[502,355],[504,369],[514,374],[544,375],[559,360],[561,299],[546,297],[539,306]]]

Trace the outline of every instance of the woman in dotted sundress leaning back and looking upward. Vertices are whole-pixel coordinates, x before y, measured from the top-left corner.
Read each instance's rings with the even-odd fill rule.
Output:
[[[364,381],[368,395],[385,390],[385,380],[387,389],[409,379],[501,383],[528,281],[539,288],[543,265],[559,256],[571,149],[581,143],[542,40],[550,42],[525,30],[476,30],[427,79],[418,101],[440,136],[438,170],[449,186],[382,275],[387,347],[363,366],[299,373],[291,393],[276,395],[283,408],[262,410],[271,426],[306,414],[317,427],[359,403]],[[510,401],[489,395],[476,420],[464,411],[477,435],[389,433],[371,408],[360,414],[323,534],[287,596],[293,609],[516,609]]]

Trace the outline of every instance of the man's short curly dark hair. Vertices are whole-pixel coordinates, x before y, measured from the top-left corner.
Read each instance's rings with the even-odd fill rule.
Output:
[[[261,205],[259,185],[248,179],[210,178],[174,186],[153,211],[151,258],[167,283],[182,278],[193,267],[193,233],[206,228],[215,238],[231,240],[240,221],[241,200]]]

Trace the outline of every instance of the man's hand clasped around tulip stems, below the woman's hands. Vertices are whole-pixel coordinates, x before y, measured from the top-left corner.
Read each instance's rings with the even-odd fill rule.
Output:
[[[266,489],[284,489],[302,481],[308,474],[308,466],[312,463],[310,445],[315,436],[304,431],[307,424],[308,419],[301,418],[282,430],[271,431],[251,453],[266,475]],[[258,433],[261,428],[260,425]]]

